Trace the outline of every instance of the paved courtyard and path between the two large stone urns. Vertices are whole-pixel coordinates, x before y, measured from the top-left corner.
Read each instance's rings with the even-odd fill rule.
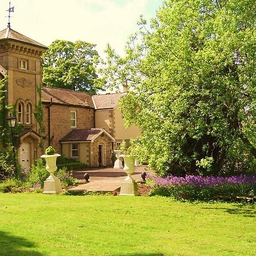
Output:
[[[135,168],[133,179],[141,181],[142,172],[146,171],[147,174],[152,175],[153,172],[147,170],[146,166]],[[85,183],[84,174],[90,175],[89,183]],[[122,181],[126,178],[126,173],[123,169],[114,168],[97,168],[73,171],[73,177],[80,180],[80,185],[69,191],[98,191],[98,192],[114,192],[118,191],[121,187]]]

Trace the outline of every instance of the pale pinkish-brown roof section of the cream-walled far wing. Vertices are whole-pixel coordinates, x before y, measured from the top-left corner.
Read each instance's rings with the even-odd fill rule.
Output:
[[[118,100],[126,93],[109,93],[93,95],[93,103],[95,109],[113,109],[118,105]]]

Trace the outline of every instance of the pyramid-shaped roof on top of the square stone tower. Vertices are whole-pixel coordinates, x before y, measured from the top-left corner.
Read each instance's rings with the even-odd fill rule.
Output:
[[[36,42],[35,40],[28,38],[27,36],[24,36],[24,35],[20,34],[19,32],[16,32],[15,30],[12,30],[9,27],[7,27],[5,30],[0,31],[0,41],[5,40],[5,39],[11,39],[16,42],[27,43],[27,44],[31,44],[33,46],[47,49],[47,47],[44,46],[43,44],[40,44],[40,43]]]

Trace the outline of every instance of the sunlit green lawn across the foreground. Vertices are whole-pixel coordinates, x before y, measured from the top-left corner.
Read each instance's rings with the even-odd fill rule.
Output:
[[[254,205],[0,193],[0,255],[256,255]]]

